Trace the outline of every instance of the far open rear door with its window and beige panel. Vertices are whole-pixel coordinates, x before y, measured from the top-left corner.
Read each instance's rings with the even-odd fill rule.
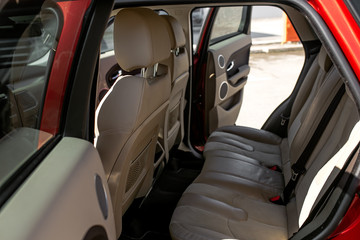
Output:
[[[193,22],[198,12],[193,11]],[[199,94],[204,96],[200,96],[204,105],[202,101],[196,103],[204,111],[205,137],[218,127],[235,124],[238,117],[250,72],[250,19],[251,7],[238,6],[213,8],[205,21],[194,56],[200,63],[194,64],[198,73],[195,79],[204,82]]]

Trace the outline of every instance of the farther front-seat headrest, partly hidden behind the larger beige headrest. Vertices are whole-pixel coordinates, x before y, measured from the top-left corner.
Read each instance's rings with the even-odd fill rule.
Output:
[[[168,28],[170,35],[171,49],[176,49],[185,46],[186,44],[185,33],[182,26],[176,20],[176,18],[168,15],[162,15],[161,17],[163,17],[167,23],[166,26]]]

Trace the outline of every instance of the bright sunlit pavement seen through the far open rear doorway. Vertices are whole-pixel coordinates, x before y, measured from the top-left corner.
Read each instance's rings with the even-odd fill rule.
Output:
[[[292,92],[304,62],[303,50],[252,53],[250,75],[236,125],[261,128]]]

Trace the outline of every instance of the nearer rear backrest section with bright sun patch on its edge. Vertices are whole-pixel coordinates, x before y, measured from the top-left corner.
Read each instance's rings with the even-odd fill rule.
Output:
[[[298,231],[359,142],[359,119],[356,104],[346,92],[307,161],[293,201],[287,205],[289,233]]]

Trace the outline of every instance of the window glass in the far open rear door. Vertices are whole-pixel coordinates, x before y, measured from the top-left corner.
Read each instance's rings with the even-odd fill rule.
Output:
[[[210,35],[210,41],[242,31],[240,24],[243,15],[243,7],[222,7],[219,9],[213,29]]]

